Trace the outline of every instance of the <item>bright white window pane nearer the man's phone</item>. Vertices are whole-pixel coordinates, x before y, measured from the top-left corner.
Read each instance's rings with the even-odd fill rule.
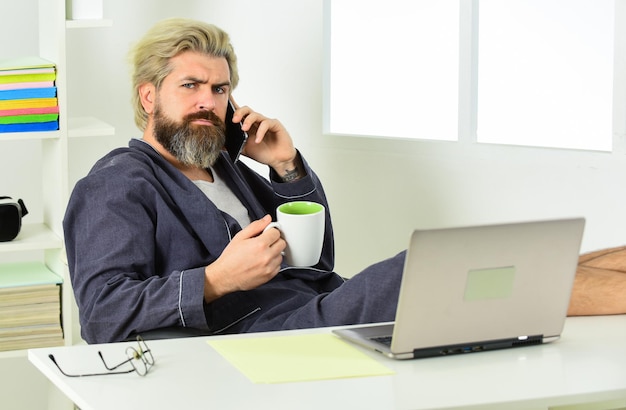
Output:
[[[327,132],[456,140],[458,0],[332,0]]]

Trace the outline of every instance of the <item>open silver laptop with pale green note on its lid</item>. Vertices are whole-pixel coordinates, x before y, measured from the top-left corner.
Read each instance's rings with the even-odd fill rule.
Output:
[[[334,332],[394,359],[552,342],[565,324],[584,225],[415,230],[394,323]]]

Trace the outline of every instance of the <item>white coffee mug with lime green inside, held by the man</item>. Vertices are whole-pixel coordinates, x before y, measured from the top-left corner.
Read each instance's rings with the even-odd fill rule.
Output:
[[[287,242],[285,261],[290,266],[313,266],[320,260],[324,244],[324,206],[317,202],[287,202],[276,208],[277,228]]]

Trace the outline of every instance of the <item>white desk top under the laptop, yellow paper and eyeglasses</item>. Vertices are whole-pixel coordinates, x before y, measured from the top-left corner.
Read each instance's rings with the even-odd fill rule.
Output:
[[[263,334],[230,337],[250,336]],[[305,383],[253,384],[206,340],[148,341],[156,365],[146,377],[69,378],[48,358],[68,372],[101,371],[96,352],[113,361],[123,357],[120,344],[34,349],[28,357],[82,410],[545,409],[626,399],[626,315],[568,318],[562,338],[541,346],[410,361],[371,353],[396,374]]]

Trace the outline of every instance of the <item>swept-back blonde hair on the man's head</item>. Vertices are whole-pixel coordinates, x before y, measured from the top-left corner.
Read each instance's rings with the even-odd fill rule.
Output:
[[[148,114],[141,105],[139,87],[151,83],[160,88],[171,72],[170,59],[185,51],[224,57],[230,69],[231,90],[239,83],[237,56],[230,37],[222,29],[201,21],[171,18],[155,24],[130,52],[132,64],[132,103],[135,124],[144,131]]]

